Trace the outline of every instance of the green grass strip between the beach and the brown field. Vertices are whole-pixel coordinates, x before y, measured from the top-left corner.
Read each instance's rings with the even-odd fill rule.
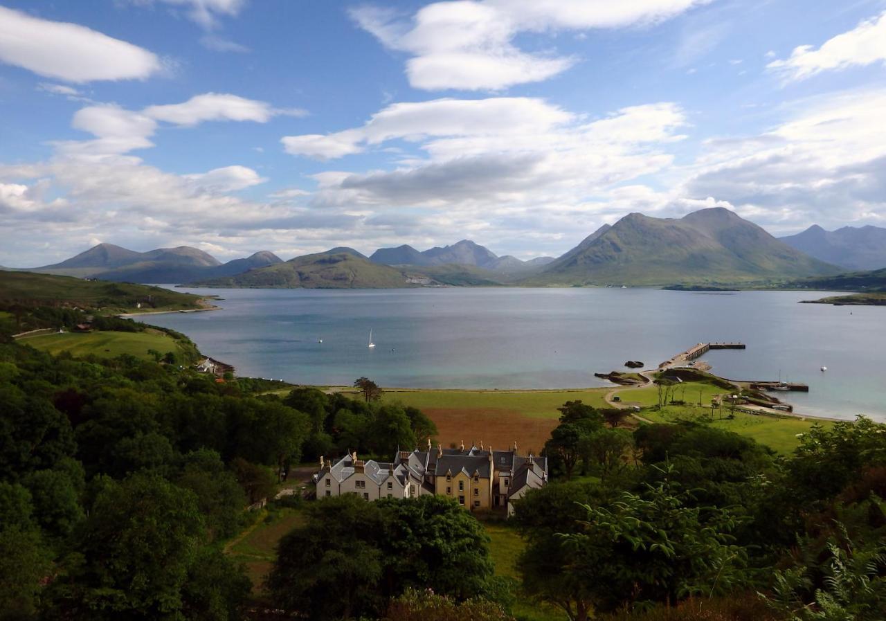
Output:
[[[566,401],[580,400],[595,408],[606,408],[604,397],[609,389],[585,388],[562,391],[395,391],[388,390],[382,400],[399,401],[414,408],[501,409],[531,418],[560,417],[557,408]]]

